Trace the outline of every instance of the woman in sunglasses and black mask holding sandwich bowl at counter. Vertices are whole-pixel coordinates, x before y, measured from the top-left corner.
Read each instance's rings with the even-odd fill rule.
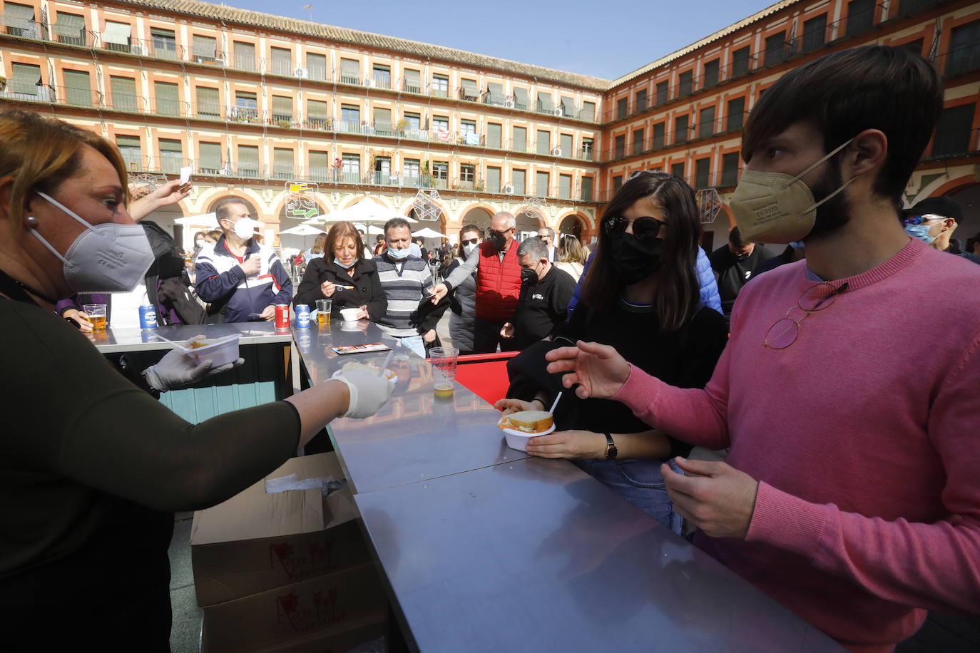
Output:
[[[582,301],[553,340],[611,345],[667,383],[703,388],[724,349],[727,329],[724,317],[699,301],[695,261],[700,237],[694,192],[682,179],[648,172],[627,181],[606,209]],[[547,410],[560,389],[561,382],[549,375],[529,375],[512,384],[512,394],[519,397],[496,405],[505,413]],[[555,423],[555,433],[528,442],[528,453],[572,459],[680,532],[681,518],[667,498],[660,466],[686,455],[690,445],[651,430],[608,399],[565,393]]]

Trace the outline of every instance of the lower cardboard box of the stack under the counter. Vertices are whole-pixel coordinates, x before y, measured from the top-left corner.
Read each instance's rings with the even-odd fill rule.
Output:
[[[328,638],[365,622],[383,622],[386,606],[377,572],[366,563],[204,608],[201,650],[244,653],[300,646],[297,651],[316,651],[303,646],[311,640],[316,646],[319,635]],[[359,643],[364,642],[354,645]]]

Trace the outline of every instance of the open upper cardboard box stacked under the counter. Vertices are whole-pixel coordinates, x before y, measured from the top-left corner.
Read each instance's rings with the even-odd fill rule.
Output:
[[[291,458],[227,501],[194,513],[191,564],[201,607],[305,581],[370,559],[350,490],[266,491],[266,481],[343,479],[333,453]],[[314,485],[307,483],[305,485]]]

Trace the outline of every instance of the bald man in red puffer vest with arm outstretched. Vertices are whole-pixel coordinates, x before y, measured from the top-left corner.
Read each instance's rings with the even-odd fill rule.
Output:
[[[437,285],[432,302],[441,300],[467,276],[476,272],[476,320],[473,326],[473,353],[493,353],[514,349],[514,341],[501,338],[504,323],[514,317],[520,297],[520,261],[517,259],[515,234],[517,223],[507,211],[495,213],[490,220],[489,237],[480,243],[478,256],[466,262]]]

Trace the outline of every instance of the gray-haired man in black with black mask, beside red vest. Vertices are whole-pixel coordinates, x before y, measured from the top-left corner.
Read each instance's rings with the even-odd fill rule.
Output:
[[[570,274],[548,260],[548,246],[540,238],[529,238],[517,248],[520,261],[520,298],[514,319],[504,324],[501,337],[523,350],[548,336],[567,316],[568,302],[575,291]]]

